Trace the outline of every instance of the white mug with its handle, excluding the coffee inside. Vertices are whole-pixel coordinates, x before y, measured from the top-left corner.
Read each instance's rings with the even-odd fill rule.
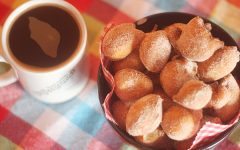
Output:
[[[50,68],[37,68],[22,65],[11,53],[9,32],[16,19],[22,14],[39,6],[56,6],[69,13],[81,31],[81,36],[74,56],[61,65]],[[33,97],[47,103],[60,103],[75,97],[88,81],[88,61],[86,58],[87,29],[79,11],[62,0],[29,1],[15,9],[7,18],[2,30],[3,56],[0,62],[9,63],[12,69],[0,75],[0,87],[19,81]]]

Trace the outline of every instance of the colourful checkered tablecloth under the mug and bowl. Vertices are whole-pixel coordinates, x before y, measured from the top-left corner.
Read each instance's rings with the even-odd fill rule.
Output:
[[[0,0],[0,31],[9,13],[26,0]],[[240,44],[240,0],[68,0],[88,28],[90,80],[73,100],[41,103],[15,83],[0,88],[0,150],[127,150],[104,118],[97,94],[98,41],[109,22],[133,22],[165,12],[189,12],[223,27]],[[1,66],[0,66],[1,70]],[[216,149],[239,150],[240,128]]]

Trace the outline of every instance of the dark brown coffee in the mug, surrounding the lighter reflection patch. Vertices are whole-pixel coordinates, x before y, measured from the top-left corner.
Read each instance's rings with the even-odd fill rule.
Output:
[[[44,53],[39,44],[31,38],[29,17],[37,18],[60,34],[57,56]],[[9,46],[13,55],[22,63],[35,67],[52,67],[67,60],[78,46],[80,31],[71,15],[53,6],[41,6],[26,12],[13,24],[9,33]]]

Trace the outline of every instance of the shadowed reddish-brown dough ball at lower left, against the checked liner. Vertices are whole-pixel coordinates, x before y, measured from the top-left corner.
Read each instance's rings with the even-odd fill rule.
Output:
[[[113,117],[121,129],[126,129],[126,117],[129,110],[129,105],[123,101],[116,100],[112,104]]]

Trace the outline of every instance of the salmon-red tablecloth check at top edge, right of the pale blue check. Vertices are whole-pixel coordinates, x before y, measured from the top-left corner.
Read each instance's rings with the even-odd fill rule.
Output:
[[[188,3],[192,7],[209,15],[218,3],[218,0],[188,0]]]

